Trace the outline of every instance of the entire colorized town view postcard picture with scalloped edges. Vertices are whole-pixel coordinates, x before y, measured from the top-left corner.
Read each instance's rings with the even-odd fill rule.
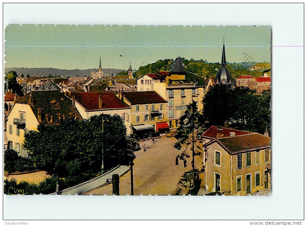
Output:
[[[9,25],[7,195],[269,195],[269,26]]]

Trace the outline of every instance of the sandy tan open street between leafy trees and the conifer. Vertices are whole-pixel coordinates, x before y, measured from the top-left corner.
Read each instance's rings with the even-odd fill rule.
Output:
[[[175,149],[173,145],[177,142],[174,137],[162,137],[140,142],[142,149],[134,152],[133,177],[134,195],[183,195],[188,189],[178,185],[182,174],[192,169],[192,156],[187,159],[187,167],[184,168],[183,161],[179,160],[179,165],[175,165],[175,159],[181,151]],[[146,151],[143,151],[143,146]],[[191,151],[189,151],[191,155]],[[202,155],[195,156],[195,166],[201,168]],[[130,171],[120,177],[120,195],[130,195]],[[83,194],[112,195],[112,184]]]

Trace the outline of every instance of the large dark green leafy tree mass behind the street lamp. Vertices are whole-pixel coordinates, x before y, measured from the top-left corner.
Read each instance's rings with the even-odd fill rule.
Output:
[[[102,119],[104,131],[102,132]],[[24,148],[38,169],[49,175],[80,182],[97,175],[102,158],[105,169],[128,164],[126,128],[119,115],[95,115],[89,120],[63,120],[55,126],[39,125],[25,135]]]

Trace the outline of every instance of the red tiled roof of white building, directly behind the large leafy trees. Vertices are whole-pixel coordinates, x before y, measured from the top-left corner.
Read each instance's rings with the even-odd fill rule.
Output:
[[[102,97],[101,108],[99,108],[99,96]],[[78,93],[76,101],[86,110],[129,108],[111,91]]]

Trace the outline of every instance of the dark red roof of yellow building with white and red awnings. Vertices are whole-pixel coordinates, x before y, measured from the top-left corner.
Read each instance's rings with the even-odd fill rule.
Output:
[[[167,102],[155,91],[124,92],[124,97],[131,103],[131,105]]]

